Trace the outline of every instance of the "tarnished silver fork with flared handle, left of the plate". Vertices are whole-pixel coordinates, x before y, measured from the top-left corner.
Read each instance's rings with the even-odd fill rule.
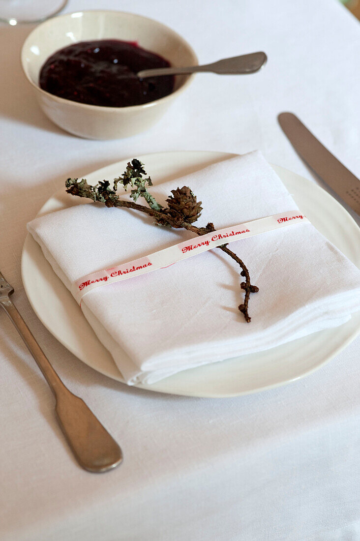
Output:
[[[71,393],[58,377],[11,301],[12,293],[14,288],[0,272],[0,304],[14,323],[55,395],[57,419],[76,460],[90,472],[104,472],[121,464],[121,448],[84,401]]]

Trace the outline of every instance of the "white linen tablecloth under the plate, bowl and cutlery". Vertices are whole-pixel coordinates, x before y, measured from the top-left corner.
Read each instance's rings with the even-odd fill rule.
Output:
[[[70,1],[67,11],[95,9]],[[145,392],[78,361],[37,320],[22,287],[25,225],[68,176],[163,150],[261,149],[315,179],[280,130],[290,110],[360,176],[359,23],[336,0],[103,0],[174,28],[200,62],[265,50],[247,77],[199,75],[152,130],[86,141],[50,123],[19,65],[29,27],[0,27],[1,269],[64,382],[121,443],[123,465],[81,470],[54,400],[0,316],[0,539],[355,541],[360,539],[359,344],[308,377],[232,399]]]

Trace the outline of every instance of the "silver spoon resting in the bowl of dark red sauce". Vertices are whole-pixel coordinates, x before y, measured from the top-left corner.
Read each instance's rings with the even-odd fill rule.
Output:
[[[251,52],[248,55],[224,58],[213,64],[204,64],[201,66],[145,69],[138,72],[138,77],[143,79],[145,77],[156,77],[157,75],[181,75],[196,73],[198,71],[211,71],[219,75],[245,75],[259,71],[266,63],[266,60],[267,56],[265,52]]]

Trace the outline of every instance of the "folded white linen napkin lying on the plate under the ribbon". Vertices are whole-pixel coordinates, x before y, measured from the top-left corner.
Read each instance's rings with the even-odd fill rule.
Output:
[[[151,190],[163,203],[178,186],[189,186],[202,201],[199,226],[214,222],[220,229],[297,210],[258,151]],[[42,216],[28,230],[69,289],[84,275],[194,237],[100,203]],[[84,295],[83,313],[129,385],[263,351],[341,325],[360,309],[360,271],[309,222],[239,239],[230,248],[260,290],[250,296],[250,323],[237,309],[241,269],[218,249]]]

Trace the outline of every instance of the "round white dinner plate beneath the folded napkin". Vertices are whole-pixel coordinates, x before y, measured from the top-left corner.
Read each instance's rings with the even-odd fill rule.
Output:
[[[149,154],[140,156],[140,160],[156,184],[232,156],[185,151]],[[127,162],[122,160],[85,176],[91,184],[103,179],[112,180],[125,170]],[[349,213],[315,183],[282,167],[272,167],[313,225],[360,267],[360,229]],[[67,194],[62,188],[44,204],[38,216],[88,202]],[[123,382],[110,353],[95,337],[80,307],[31,235],[24,244],[22,279],[32,308],[51,334],[91,368]],[[316,370],[335,357],[359,331],[360,313],[357,313],[340,327],[319,331],[261,353],[192,368],[153,385],[138,387],[195,397],[230,397],[261,391]]]

